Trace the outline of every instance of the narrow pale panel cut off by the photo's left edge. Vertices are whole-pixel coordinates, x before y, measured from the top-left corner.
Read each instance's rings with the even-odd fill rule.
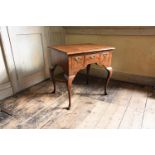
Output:
[[[13,94],[9,79],[0,31],[0,100]]]

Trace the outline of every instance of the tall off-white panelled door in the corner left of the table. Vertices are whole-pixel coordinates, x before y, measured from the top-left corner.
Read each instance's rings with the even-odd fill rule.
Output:
[[[43,27],[8,27],[18,91],[47,77],[47,45]]]

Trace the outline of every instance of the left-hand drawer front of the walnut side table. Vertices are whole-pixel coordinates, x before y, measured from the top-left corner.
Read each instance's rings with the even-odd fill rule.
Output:
[[[79,68],[84,66],[84,56],[72,56],[72,68]]]

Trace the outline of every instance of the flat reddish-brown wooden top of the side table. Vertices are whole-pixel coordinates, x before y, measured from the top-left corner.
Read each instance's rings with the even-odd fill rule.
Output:
[[[115,49],[114,47],[111,46],[92,44],[92,43],[55,45],[55,46],[48,46],[48,48],[64,52],[67,55],[90,53],[97,51],[109,51]]]

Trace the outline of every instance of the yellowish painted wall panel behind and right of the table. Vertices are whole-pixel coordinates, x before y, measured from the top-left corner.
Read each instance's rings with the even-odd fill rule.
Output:
[[[66,34],[66,43],[100,43],[116,47],[114,71],[155,77],[155,36]]]

